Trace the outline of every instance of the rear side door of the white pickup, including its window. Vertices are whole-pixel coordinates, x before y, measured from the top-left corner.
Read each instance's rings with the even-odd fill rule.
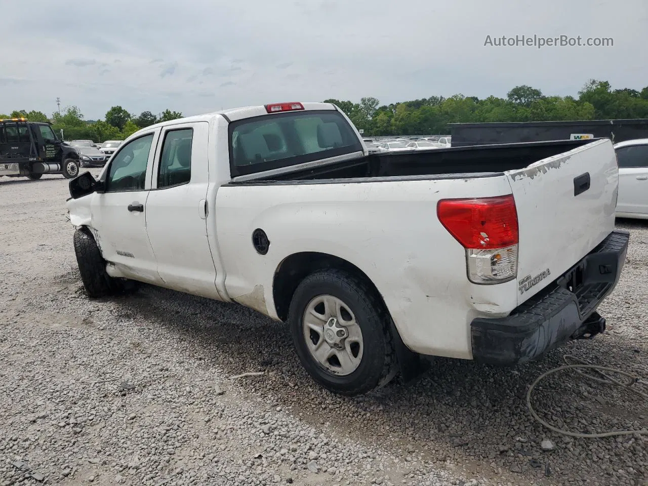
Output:
[[[220,299],[207,240],[209,123],[166,126],[160,137],[146,200],[157,273],[165,287]]]

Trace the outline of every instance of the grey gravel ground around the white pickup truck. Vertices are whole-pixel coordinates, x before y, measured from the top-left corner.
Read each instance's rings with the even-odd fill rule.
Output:
[[[347,399],[246,308],[150,286],[88,299],[66,197],[61,176],[0,179],[0,486],[648,485],[648,437],[564,437],[524,402],[566,353],[647,391],[648,222],[618,222],[631,247],[605,334],[516,369],[437,359],[415,384]],[[636,395],[562,373],[534,395],[552,424],[648,426]]]

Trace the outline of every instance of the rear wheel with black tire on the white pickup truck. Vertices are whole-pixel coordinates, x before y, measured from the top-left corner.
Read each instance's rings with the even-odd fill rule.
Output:
[[[328,300],[328,307],[324,300]],[[338,310],[327,312],[334,305]],[[313,317],[315,314],[310,310],[323,318]],[[321,386],[348,396],[385,386],[395,375],[397,364],[389,319],[376,291],[363,279],[342,270],[321,270],[308,275],[297,286],[288,310],[288,324],[301,364]],[[317,330],[308,327],[308,323]],[[356,326],[360,328],[359,338]],[[343,334],[347,336],[340,338]],[[318,347],[319,340],[323,342]],[[323,349],[320,357],[335,357],[318,359],[312,349]]]

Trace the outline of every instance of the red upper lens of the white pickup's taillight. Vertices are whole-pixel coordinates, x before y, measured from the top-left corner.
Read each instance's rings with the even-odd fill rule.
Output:
[[[443,199],[439,221],[467,249],[494,249],[518,243],[513,194],[494,198]]]

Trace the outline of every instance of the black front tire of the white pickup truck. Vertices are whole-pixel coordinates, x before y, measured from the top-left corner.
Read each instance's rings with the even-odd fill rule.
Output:
[[[115,279],[106,273],[106,260],[91,237],[82,229],[77,229],[74,236],[76,263],[81,280],[89,297],[96,299],[106,295],[124,294],[136,290],[135,282],[126,279]]]

